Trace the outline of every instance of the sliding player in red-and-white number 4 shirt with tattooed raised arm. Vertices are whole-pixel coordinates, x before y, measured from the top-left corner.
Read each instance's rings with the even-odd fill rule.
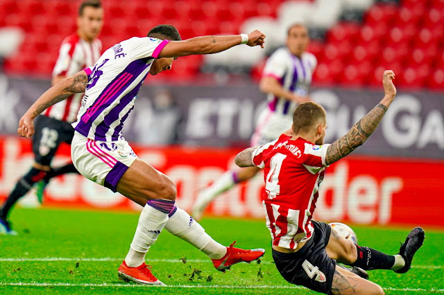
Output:
[[[287,134],[237,155],[235,161],[240,167],[264,168],[262,203],[273,237],[273,259],[289,283],[326,294],[384,294],[379,285],[339,267],[336,261],[361,269],[392,269],[398,273],[410,269],[413,255],[425,238],[420,227],[407,235],[399,254],[391,256],[359,247],[328,224],[311,220],[325,168],[350,154],[375,132],[395,98],[394,78],[393,71],[384,71],[384,98],[332,145],[323,145],[325,109],[315,102],[304,102],[296,107]]]

